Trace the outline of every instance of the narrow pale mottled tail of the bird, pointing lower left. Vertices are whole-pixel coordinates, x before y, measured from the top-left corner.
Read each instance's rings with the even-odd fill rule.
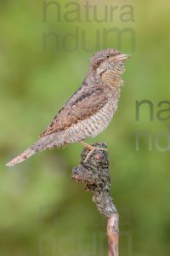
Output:
[[[13,160],[10,160],[5,166],[14,166],[19,164],[22,161],[25,161],[27,158],[31,157],[32,154],[35,154],[37,150],[31,148],[27,148],[24,152],[17,155]]]

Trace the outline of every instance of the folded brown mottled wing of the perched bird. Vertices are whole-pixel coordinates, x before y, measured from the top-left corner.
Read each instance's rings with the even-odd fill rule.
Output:
[[[107,96],[103,88],[82,85],[66,102],[65,106],[59,110],[59,113],[54,117],[47,130],[42,133],[41,137],[65,130],[83,119],[88,119],[100,108],[103,108],[105,102],[107,102]]]

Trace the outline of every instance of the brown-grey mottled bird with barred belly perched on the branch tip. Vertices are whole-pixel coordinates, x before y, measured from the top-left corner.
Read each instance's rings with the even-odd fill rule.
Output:
[[[38,151],[63,148],[70,143],[81,143],[89,150],[89,154],[95,149],[107,150],[95,148],[85,141],[104,131],[116,113],[123,84],[122,73],[129,57],[111,48],[92,55],[88,73],[80,88],[54,116],[37,142],[6,166],[14,166]]]

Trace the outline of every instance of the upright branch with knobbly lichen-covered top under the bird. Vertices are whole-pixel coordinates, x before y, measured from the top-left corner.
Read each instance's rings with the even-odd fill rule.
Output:
[[[105,143],[93,145],[98,148],[107,148]],[[118,256],[118,212],[109,195],[111,188],[111,175],[109,171],[108,152],[95,150],[87,161],[84,161],[89,153],[83,149],[80,165],[72,170],[72,178],[84,184],[84,189],[92,191],[93,201],[99,212],[108,218],[107,235],[109,241],[109,256]]]

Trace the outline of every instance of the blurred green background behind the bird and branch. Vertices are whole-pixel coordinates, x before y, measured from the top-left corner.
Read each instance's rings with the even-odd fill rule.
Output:
[[[170,100],[169,3],[89,1],[88,17],[85,1],[53,1],[47,8],[48,2],[0,1],[0,256],[107,255],[106,219],[90,193],[71,180],[80,145],[42,152],[11,169],[4,166],[44,131],[82,83],[90,56],[103,48],[132,54],[114,120],[89,140],[109,144],[120,255],[167,256],[170,110],[162,113],[166,120],[156,113],[167,108],[159,102]],[[114,32],[106,40],[103,32],[109,29]],[[76,32],[76,39],[69,35]],[[135,102],[142,100],[152,104],[152,121],[147,104],[139,121],[135,118]],[[136,150],[139,131],[150,134],[140,138]]]

